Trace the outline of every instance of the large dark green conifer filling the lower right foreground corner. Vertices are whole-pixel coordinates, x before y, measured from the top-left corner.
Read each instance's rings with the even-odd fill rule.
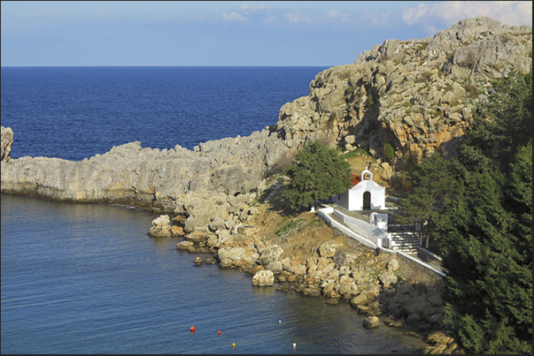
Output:
[[[445,324],[468,352],[532,349],[531,145],[530,156],[528,149],[515,155],[511,172],[470,172],[468,223],[461,233],[445,234]]]

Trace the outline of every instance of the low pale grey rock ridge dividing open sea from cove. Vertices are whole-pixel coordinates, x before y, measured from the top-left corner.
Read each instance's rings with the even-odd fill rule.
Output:
[[[9,142],[12,131],[3,127],[4,193],[187,213],[195,210],[197,219],[202,220],[197,224],[205,223],[201,205],[213,210],[220,200],[226,203],[239,194],[259,191],[278,157],[288,151],[269,129],[244,138],[208,141],[192,151],[179,145],[162,150],[142,148],[141,142],[135,141],[83,161],[28,156],[8,160]],[[186,198],[189,194],[193,195]],[[194,230],[194,225],[186,223],[186,231]]]

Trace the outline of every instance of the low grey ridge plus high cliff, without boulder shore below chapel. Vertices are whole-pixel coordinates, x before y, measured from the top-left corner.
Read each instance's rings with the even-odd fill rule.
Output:
[[[317,74],[309,95],[282,106],[277,125],[192,151],[142,148],[136,141],[78,162],[10,160],[13,133],[3,127],[2,192],[202,216],[186,225],[188,231],[217,216],[243,220],[246,202],[265,189],[264,179],[306,140],[365,148],[396,170],[409,169],[434,151],[453,150],[472,110],[491,95],[491,79],[531,67],[532,27],[465,19],[433,37],[376,45],[353,64]],[[239,195],[244,201],[236,201]]]

